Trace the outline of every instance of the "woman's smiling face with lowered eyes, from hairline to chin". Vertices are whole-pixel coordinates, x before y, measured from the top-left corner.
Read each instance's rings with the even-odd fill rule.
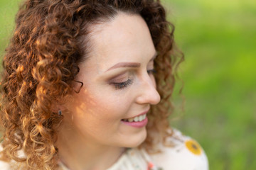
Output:
[[[65,121],[85,141],[137,147],[146,138],[145,114],[160,101],[149,28],[141,16],[119,13],[112,21],[92,26],[90,44],[76,77],[84,86],[68,101],[72,118]],[[142,116],[134,118],[137,115]],[[134,119],[141,121],[127,123]]]

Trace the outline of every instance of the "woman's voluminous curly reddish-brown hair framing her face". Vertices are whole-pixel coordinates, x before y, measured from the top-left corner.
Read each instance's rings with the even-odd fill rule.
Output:
[[[157,142],[171,136],[167,118],[173,111],[175,70],[183,55],[159,0],[26,0],[17,13],[3,61],[1,159],[14,159],[23,169],[58,167],[55,142],[63,115],[55,113],[53,106],[64,104],[74,91],[78,63],[89,50],[88,27],[119,11],[144,18],[158,52],[154,67],[161,102],[151,107],[148,135],[141,147],[154,151]],[[18,155],[20,150],[26,157]]]

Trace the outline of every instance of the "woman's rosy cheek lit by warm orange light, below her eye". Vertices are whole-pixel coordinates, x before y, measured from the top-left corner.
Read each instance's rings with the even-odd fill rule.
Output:
[[[117,95],[112,91],[78,94],[74,103],[75,119],[87,124],[118,123],[129,112],[132,100],[127,95]],[[92,91],[93,92],[93,91]]]

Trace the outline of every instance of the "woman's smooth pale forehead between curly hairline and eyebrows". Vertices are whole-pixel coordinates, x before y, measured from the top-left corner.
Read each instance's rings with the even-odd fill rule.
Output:
[[[105,72],[118,62],[148,62],[154,44],[144,19],[135,14],[119,13],[112,21],[91,27],[88,67]]]

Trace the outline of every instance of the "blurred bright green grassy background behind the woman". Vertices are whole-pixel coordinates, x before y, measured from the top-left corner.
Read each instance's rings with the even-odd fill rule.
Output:
[[[164,0],[186,98],[178,81],[171,125],[198,140],[210,169],[256,169],[256,1]],[[14,28],[18,0],[0,0],[0,55]]]

